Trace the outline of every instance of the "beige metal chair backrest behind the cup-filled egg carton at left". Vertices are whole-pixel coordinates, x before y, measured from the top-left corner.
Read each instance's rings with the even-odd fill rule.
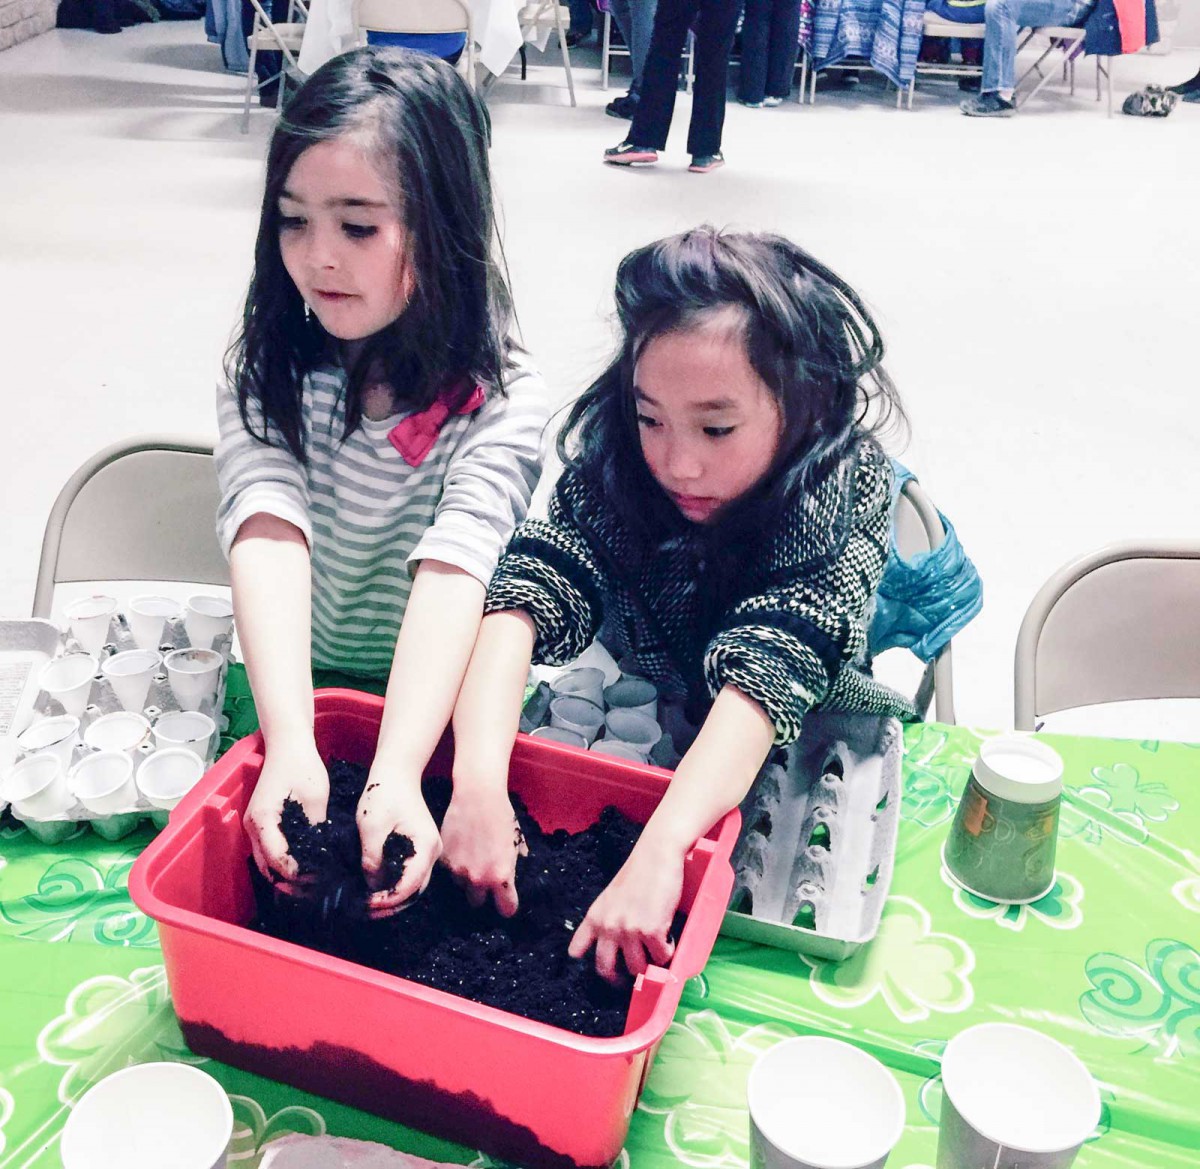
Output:
[[[228,584],[216,538],[212,448],[143,437],[89,458],[59,492],[42,538],[34,616],[70,581]]]

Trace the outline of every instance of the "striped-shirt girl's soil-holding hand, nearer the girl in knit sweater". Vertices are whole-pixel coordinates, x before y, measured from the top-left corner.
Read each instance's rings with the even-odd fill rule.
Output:
[[[379,779],[372,771],[359,801],[358,821],[362,841],[362,875],[367,888],[374,889],[367,898],[367,915],[390,917],[425,892],[433,865],[442,856],[442,838],[430,809],[425,807],[420,777],[413,781],[398,775]],[[383,846],[392,833],[408,837],[413,843],[413,855],[404,862],[401,879],[389,887]]]

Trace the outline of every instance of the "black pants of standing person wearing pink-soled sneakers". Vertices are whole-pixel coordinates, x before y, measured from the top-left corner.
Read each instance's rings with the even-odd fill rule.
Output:
[[[696,84],[691,95],[688,154],[712,155],[721,149],[725,88],[730,49],[743,0],[659,0],[654,35],[642,74],[642,97],[629,142],[661,150],[667,144],[679,88],[679,54],[696,20]],[[698,13],[698,18],[697,18]]]

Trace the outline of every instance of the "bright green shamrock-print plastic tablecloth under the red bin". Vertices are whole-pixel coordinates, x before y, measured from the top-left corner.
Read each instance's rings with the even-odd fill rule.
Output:
[[[1036,1026],[1096,1075],[1104,1114],[1082,1169],[1200,1163],[1200,749],[1048,737],[1067,767],[1058,882],[1031,906],[1004,909],[953,887],[940,861],[979,739],[907,729],[895,874],[870,946],[833,964],[718,942],[659,1050],[625,1164],[744,1165],[751,1062],[780,1038],[821,1033],[870,1050],[904,1086],[908,1123],[889,1165],[932,1165],[940,1053],[985,1020]],[[0,1169],[58,1165],[73,1101],[146,1060],[203,1063],[221,1080],[236,1119],[233,1165],[252,1169],[287,1132],[494,1164],[192,1056],[155,927],[126,893],[149,839],[109,844],[83,831],[50,849],[0,827]]]

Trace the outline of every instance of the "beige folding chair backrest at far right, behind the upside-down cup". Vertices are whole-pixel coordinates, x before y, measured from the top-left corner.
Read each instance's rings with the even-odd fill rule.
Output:
[[[1055,572],[1016,639],[1018,730],[1103,702],[1200,699],[1200,541],[1111,544]]]

